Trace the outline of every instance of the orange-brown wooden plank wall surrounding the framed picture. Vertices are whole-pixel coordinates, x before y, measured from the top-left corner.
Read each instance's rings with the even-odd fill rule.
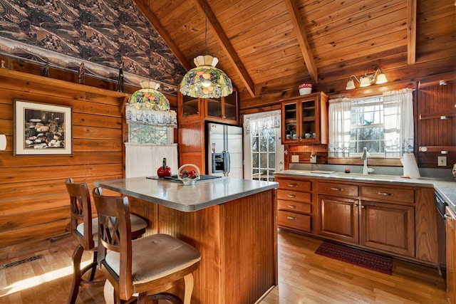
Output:
[[[64,182],[123,177],[123,119],[127,93],[1,69],[0,260],[69,235]],[[73,155],[14,156],[14,100],[72,108]]]

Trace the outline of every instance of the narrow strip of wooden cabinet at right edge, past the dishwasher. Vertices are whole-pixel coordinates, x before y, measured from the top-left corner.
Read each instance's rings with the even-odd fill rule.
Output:
[[[446,208],[445,232],[447,246],[447,299],[448,303],[456,303],[456,215]]]

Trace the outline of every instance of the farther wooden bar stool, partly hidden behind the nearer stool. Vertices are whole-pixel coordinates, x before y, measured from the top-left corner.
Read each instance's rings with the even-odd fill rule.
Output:
[[[79,244],[73,251],[73,285],[71,287],[68,303],[73,304],[78,297],[80,286],[102,286],[105,279],[94,281],[97,268],[98,246],[98,218],[92,219],[92,206],[90,204],[90,192],[87,183],[73,183],[73,179],[67,179],[66,189],[70,195],[71,234]],[[131,214],[133,227],[132,237],[136,238],[145,233],[147,222],[139,216]],[[81,269],[81,258],[84,251],[92,251],[92,262]],[[85,276],[87,273],[87,276]]]

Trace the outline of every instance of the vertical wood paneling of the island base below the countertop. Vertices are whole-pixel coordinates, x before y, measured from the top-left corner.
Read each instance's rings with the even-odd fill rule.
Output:
[[[156,232],[176,236],[201,253],[192,303],[254,303],[278,283],[275,192],[194,212],[132,197],[129,203],[131,211],[154,222]]]

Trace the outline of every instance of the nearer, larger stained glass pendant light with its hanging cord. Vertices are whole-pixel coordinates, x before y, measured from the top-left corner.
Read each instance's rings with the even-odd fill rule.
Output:
[[[207,53],[207,1],[205,2]],[[193,98],[220,98],[233,93],[233,85],[228,75],[215,67],[219,60],[210,55],[200,55],[193,60],[196,68],[189,70],[180,83],[180,93]]]

